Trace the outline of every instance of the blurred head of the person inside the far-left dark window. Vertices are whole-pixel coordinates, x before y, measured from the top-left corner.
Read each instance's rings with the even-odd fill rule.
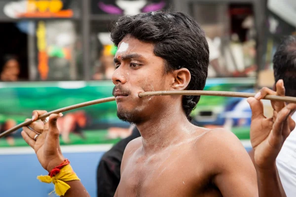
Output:
[[[14,55],[5,55],[0,67],[1,81],[17,81],[20,75],[20,64]]]

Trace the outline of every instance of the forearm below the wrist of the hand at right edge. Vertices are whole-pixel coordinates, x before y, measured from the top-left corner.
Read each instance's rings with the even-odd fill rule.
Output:
[[[258,176],[259,197],[286,197],[277,167],[268,170],[256,167]]]

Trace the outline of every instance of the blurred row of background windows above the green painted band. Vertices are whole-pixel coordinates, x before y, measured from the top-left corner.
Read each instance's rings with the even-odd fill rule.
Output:
[[[106,71],[112,23],[161,9],[186,12],[206,31],[210,78],[256,77],[266,0],[1,0],[0,56],[19,57],[20,80],[109,79],[96,74]]]

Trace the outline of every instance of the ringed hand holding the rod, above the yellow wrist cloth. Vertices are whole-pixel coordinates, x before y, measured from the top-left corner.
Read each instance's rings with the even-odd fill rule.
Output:
[[[34,111],[33,120],[38,116],[47,113],[46,111]],[[34,149],[37,158],[42,167],[50,172],[54,167],[60,165],[64,161],[61,153],[59,135],[57,128],[57,119],[63,116],[61,113],[52,114],[48,121],[41,119],[42,122],[35,121],[29,127],[23,127],[22,136],[24,140]],[[28,119],[27,119],[28,120]],[[45,121],[44,121],[45,120]]]

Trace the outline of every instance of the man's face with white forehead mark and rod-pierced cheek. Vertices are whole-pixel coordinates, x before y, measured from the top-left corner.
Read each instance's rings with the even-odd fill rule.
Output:
[[[154,46],[126,36],[118,45],[114,57],[117,68],[112,76],[113,95],[117,116],[125,121],[139,123],[153,113],[164,109],[167,97],[140,98],[140,92],[169,90],[173,78],[164,70],[165,61],[154,55]]]

